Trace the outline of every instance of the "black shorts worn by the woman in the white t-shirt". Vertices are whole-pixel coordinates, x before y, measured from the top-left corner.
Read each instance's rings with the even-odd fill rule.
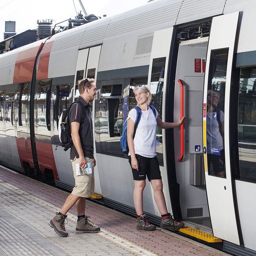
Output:
[[[134,180],[144,180],[146,176],[148,180],[151,181],[152,179],[162,179],[161,172],[159,168],[159,163],[157,157],[144,157],[141,155],[135,154],[138,164],[139,164],[139,171],[132,168],[132,174]],[[132,167],[132,160],[131,156],[129,155],[129,163]]]

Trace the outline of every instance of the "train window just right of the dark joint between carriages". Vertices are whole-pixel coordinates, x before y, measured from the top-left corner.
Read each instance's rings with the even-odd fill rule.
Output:
[[[50,135],[51,79],[38,81],[37,88],[37,133]]]

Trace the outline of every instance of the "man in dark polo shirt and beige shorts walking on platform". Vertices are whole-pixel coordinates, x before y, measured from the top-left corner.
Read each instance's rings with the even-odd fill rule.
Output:
[[[74,103],[69,111],[69,123],[71,124],[71,137],[73,145],[70,151],[70,160],[73,167],[75,177],[75,187],[72,193],[66,199],[60,212],[56,213],[51,219],[49,225],[60,236],[67,237],[68,232],[65,229],[64,221],[67,218],[67,212],[73,205],[77,207],[77,226],[76,233],[99,232],[100,228],[93,223],[85,215],[86,197],[94,194],[94,171],[96,166],[93,157],[93,124],[90,113],[89,101],[93,101],[97,94],[94,79],[85,78],[79,81],[78,90],[80,96],[78,101],[82,102],[82,106]],[[76,164],[86,168],[87,163],[91,164],[92,174],[77,175]],[[88,165],[90,165],[88,164]]]

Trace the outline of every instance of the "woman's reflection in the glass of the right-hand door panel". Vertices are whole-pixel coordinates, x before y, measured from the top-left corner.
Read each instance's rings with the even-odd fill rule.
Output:
[[[224,176],[224,113],[219,110],[219,93],[207,91],[207,117],[206,117],[206,140],[207,140],[207,164],[208,172],[212,163],[215,176]]]

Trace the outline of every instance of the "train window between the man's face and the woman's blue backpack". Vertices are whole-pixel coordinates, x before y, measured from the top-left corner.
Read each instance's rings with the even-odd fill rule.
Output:
[[[103,97],[99,100],[101,153],[123,157],[120,147],[120,138],[123,130],[122,84],[104,85],[101,91]]]

